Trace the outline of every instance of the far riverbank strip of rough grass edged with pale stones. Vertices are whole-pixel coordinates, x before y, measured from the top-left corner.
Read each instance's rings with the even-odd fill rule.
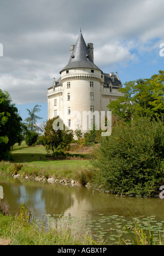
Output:
[[[92,176],[92,170],[86,167],[58,167],[47,168],[31,166],[28,164],[16,164],[0,162],[0,174],[13,176],[14,178],[35,179],[40,182],[62,183],[66,185],[88,185]]]

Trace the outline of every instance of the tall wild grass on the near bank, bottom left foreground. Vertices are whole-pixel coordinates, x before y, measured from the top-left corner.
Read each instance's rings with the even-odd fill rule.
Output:
[[[45,223],[41,225],[32,218],[31,211],[25,203],[20,205],[15,216],[7,212],[2,214],[0,200],[0,244],[1,245],[98,245],[92,240],[89,233],[77,238],[68,226],[55,226],[46,228]]]

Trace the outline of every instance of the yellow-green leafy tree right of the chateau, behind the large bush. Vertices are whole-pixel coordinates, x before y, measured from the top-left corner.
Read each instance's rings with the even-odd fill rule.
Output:
[[[110,102],[108,108],[125,120],[135,117],[164,118],[164,71],[153,75],[150,79],[138,79],[125,83],[119,89],[123,96]]]

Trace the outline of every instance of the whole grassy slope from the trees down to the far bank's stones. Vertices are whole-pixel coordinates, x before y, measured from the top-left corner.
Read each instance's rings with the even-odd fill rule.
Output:
[[[43,146],[27,147],[15,145],[11,150],[13,161],[0,162],[0,173],[5,175],[19,174],[21,177],[54,177],[59,182],[62,179],[73,179],[81,185],[86,184],[92,177],[90,160],[80,156],[69,155],[66,159],[54,159],[47,156]]]

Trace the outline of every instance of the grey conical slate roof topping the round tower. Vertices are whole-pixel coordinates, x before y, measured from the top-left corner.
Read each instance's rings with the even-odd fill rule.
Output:
[[[70,68],[92,68],[92,69],[99,69],[94,63],[87,49],[85,40],[83,35],[79,34],[77,43],[74,46],[74,50],[72,56],[69,59],[69,62],[66,67],[62,69],[62,71]],[[100,70],[100,69],[99,69]],[[61,72],[62,72],[61,71]],[[61,74],[60,72],[60,74]]]

